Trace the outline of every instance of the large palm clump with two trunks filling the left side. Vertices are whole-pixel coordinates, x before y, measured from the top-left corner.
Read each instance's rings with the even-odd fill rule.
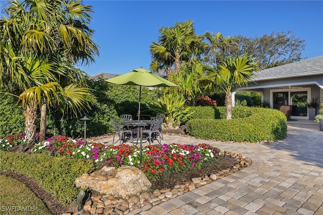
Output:
[[[64,106],[63,110],[77,114],[93,100],[86,75],[73,68],[77,62],[93,62],[98,55],[93,30],[88,28],[91,12],[90,6],[75,0],[14,0],[8,18],[0,20],[0,83],[20,96],[29,148],[37,106],[45,119],[47,105]],[[41,124],[44,134],[44,121]]]

